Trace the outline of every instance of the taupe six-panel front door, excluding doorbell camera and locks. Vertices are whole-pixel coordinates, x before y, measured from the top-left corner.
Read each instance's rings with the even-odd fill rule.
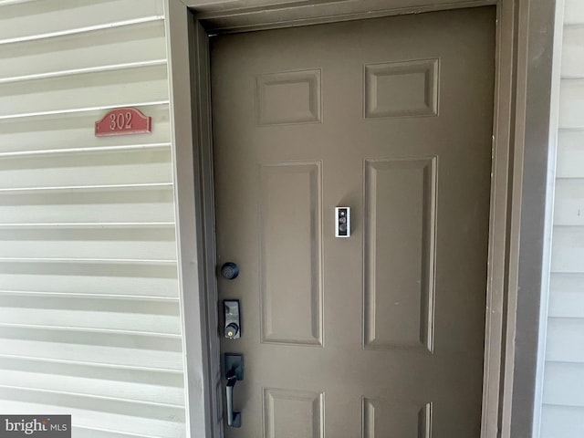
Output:
[[[212,38],[227,437],[479,436],[494,47],[490,7]]]

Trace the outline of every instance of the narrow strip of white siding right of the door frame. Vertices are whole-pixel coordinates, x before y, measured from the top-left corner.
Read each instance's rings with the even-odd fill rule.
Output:
[[[566,0],[540,438],[584,436],[584,2]]]

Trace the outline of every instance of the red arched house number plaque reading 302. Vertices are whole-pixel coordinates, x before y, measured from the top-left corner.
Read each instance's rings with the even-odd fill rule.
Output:
[[[147,134],[152,131],[152,118],[134,108],[110,110],[95,122],[95,136]]]

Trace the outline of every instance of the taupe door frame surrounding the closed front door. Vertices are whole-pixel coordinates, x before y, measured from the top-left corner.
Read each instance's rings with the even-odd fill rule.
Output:
[[[561,2],[560,2],[561,3]],[[549,271],[555,0],[164,0],[187,430],[223,436],[208,41],[217,33],[496,6],[481,438],[537,433]],[[199,318],[196,318],[198,316]],[[543,316],[545,318],[545,315]],[[204,424],[204,431],[202,425]]]

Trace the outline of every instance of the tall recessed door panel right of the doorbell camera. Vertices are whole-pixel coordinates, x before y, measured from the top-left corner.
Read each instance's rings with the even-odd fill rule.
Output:
[[[433,350],[436,171],[436,157],[365,162],[366,349]]]

